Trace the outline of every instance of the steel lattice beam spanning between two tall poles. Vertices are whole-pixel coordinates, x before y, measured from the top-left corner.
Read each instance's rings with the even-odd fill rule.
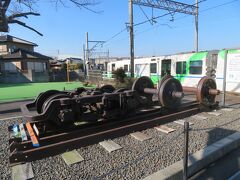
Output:
[[[133,4],[151,8],[164,9],[171,12],[178,12],[196,15],[196,6],[171,0],[132,0]]]

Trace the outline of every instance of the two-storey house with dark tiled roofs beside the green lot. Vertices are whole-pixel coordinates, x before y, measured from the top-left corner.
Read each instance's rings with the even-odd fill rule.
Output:
[[[0,82],[48,82],[48,56],[34,51],[37,44],[14,36],[0,36]]]

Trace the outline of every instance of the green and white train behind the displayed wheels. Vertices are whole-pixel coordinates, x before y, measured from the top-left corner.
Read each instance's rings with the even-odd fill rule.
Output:
[[[212,75],[217,87],[223,89],[224,62],[226,61],[226,91],[240,93],[240,49],[187,52],[174,55],[136,58],[135,77],[149,76],[157,84],[165,74],[171,74],[184,86],[196,86],[201,77]],[[130,60],[108,63],[105,77],[111,78],[112,71],[123,68],[130,74]]]

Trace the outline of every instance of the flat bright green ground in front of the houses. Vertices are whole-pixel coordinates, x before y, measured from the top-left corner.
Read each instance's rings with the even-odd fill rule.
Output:
[[[81,82],[0,84],[0,102],[34,99],[39,93],[50,89],[73,90],[77,87],[84,87],[84,85]]]

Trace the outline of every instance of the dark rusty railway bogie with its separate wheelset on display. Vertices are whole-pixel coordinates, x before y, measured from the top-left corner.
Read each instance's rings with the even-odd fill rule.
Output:
[[[143,76],[133,83],[131,90],[115,90],[111,85],[91,90],[50,90],[41,93],[34,102],[23,105],[21,110],[31,121],[63,126],[78,121],[121,119],[134,115],[141,108],[151,108],[156,103],[162,108],[177,109],[181,105],[184,91],[189,90],[196,93],[200,104],[212,106],[215,96],[219,94],[215,81],[208,77],[202,78],[197,88],[182,87],[179,80],[169,75],[158,84],[158,88],[154,88],[151,79]],[[153,101],[153,94],[157,95],[158,102]],[[36,109],[37,114],[32,115],[31,109]]]

